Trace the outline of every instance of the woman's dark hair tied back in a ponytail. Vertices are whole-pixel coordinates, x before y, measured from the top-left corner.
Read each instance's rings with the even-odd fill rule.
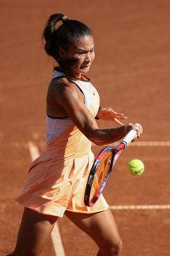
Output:
[[[56,28],[57,22],[62,21],[59,28]],[[45,39],[45,51],[52,56],[58,63],[67,78],[75,78],[71,72],[71,65],[77,59],[62,60],[59,56],[59,47],[67,49],[67,46],[74,44],[77,38],[92,35],[92,31],[85,24],[78,20],[69,20],[62,13],[55,13],[48,19],[43,31],[42,40]]]

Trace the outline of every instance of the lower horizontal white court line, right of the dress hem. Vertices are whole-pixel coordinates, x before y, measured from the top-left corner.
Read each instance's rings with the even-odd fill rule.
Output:
[[[111,210],[167,210],[169,204],[165,205],[111,205]]]

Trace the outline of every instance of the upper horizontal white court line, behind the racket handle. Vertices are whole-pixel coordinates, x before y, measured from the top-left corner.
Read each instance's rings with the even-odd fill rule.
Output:
[[[111,146],[118,145],[117,143],[108,144]],[[170,147],[170,141],[135,141],[129,144],[130,147]],[[92,147],[103,147],[92,143]]]

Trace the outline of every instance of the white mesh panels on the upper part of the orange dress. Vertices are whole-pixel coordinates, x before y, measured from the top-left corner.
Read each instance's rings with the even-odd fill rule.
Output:
[[[58,70],[54,70],[53,78],[57,77],[64,77],[65,74],[59,72]],[[78,81],[74,81],[74,83],[81,89],[83,95],[85,97],[85,106],[89,109],[92,104],[92,99],[89,95],[89,92],[85,90],[83,86],[81,86]],[[82,83],[82,82],[81,82]],[[86,83],[86,82],[85,82]],[[46,115],[46,143],[50,143],[50,141],[54,140],[62,134],[62,132],[66,131],[71,125],[73,125],[73,121],[67,118],[51,118],[50,116]]]

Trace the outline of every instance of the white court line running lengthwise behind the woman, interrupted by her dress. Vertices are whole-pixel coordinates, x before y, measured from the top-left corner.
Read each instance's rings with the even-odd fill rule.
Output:
[[[36,147],[36,145],[34,145],[34,143],[32,143],[31,141],[29,142],[29,152],[31,154],[32,161],[39,157],[38,147]],[[51,236],[55,255],[65,256],[64,247],[62,245],[62,239],[60,237],[59,226],[57,223],[55,223]]]

